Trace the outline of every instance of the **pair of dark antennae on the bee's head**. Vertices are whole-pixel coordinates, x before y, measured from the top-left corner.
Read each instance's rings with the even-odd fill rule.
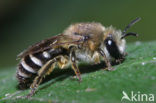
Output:
[[[126,33],[127,32],[127,30],[130,28],[130,27],[132,27],[135,23],[137,23],[138,21],[140,21],[141,20],[141,18],[140,17],[137,17],[135,20],[133,20],[133,21],[131,21],[126,27],[125,27],[125,29],[124,29],[124,31],[122,32],[122,37],[121,37],[121,39],[123,39],[123,38],[125,38],[126,36],[129,36],[129,35],[133,35],[133,36],[138,36],[138,34],[136,34],[136,33]]]

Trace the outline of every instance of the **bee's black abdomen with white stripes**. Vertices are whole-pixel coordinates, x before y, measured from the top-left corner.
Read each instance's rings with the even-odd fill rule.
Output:
[[[66,55],[66,50],[60,48],[51,49],[44,52],[29,54],[22,58],[17,70],[19,88],[28,88],[32,83],[33,79],[36,77],[38,70],[48,60],[53,59],[58,55]]]

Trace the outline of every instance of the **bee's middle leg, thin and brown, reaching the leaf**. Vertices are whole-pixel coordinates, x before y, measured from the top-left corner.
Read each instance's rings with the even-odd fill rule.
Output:
[[[75,55],[74,51],[71,52],[70,59],[72,62],[72,69],[74,70],[79,82],[81,82],[82,81],[81,74],[80,74],[80,70],[79,70],[78,66],[76,65],[76,55]]]

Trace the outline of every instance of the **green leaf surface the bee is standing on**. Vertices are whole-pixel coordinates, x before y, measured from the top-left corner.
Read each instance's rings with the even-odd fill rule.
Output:
[[[115,71],[102,70],[102,65],[81,65],[82,83],[72,78],[71,69],[56,69],[30,100],[17,99],[29,90],[16,89],[16,67],[0,69],[0,102],[120,103],[123,91],[156,95],[156,42],[129,44],[127,52],[126,60],[113,66]]]

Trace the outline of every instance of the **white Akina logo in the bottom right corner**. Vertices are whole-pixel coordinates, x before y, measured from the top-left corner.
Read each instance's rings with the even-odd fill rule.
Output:
[[[128,101],[148,101],[153,102],[154,101],[154,94],[143,94],[140,91],[134,92],[131,91],[130,95],[128,95],[125,91],[122,91],[122,98],[121,101],[128,100]]]

